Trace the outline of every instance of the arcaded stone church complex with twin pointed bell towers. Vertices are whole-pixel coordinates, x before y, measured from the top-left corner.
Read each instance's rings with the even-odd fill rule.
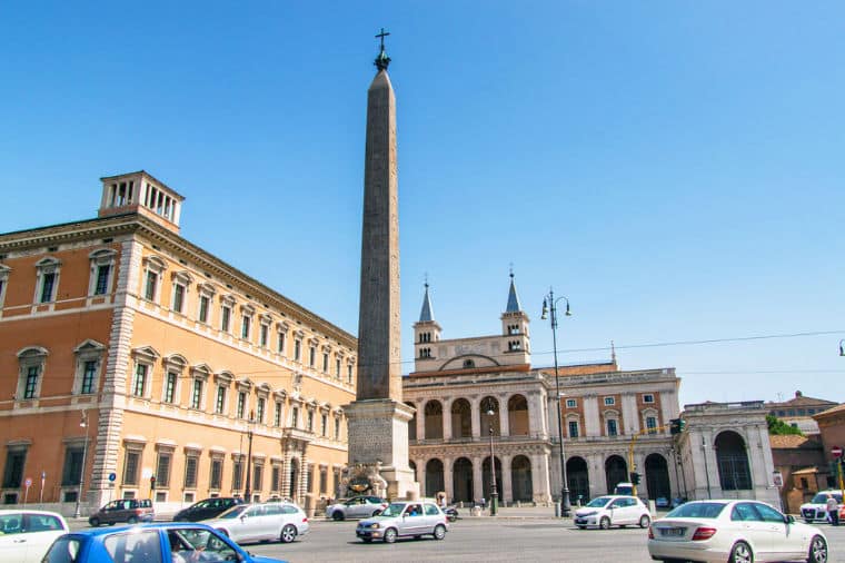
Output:
[[[655,501],[714,493],[776,500],[756,403],[693,405],[687,416],[674,368],[623,371],[615,355],[558,366],[558,396],[555,369],[531,365],[530,322],[513,275],[499,334],[441,335],[426,286],[414,325],[415,371],[404,386],[416,408],[410,458],[425,495],[489,500],[495,482],[501,504],[550,503],[561,496],[564,458],[573,504],[612,493],[632,473],[642,476],[638,494]],[[673,434],[682,417],[687,426]],[[702,439],[722,447],[697,448]]]

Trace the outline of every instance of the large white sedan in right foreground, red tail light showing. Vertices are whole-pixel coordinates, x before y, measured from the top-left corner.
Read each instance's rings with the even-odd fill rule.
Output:
[[[648,553],[656,561],[826,563],[827,539],[758,501],[693,501],[652,524]]]

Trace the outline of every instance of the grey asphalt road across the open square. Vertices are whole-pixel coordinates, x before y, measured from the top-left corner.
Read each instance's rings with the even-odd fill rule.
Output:
[[[248,551],[291,563],[543,561],[646,563],[647,532],[640,529],[578,530],[553,518],[461,518],[446,540],[399,540],[365,544],[355,537],[356,522],[312,522],[308,535],[291,544],[257,544]],[[845,526],[819,526],[829,543],[832,562],[845,563]]]

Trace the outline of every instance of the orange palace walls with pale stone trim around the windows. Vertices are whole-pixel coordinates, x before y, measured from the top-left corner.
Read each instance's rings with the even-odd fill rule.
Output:
[[[106,230],[109,243],[103,243]],[[112,253],[103,296],[91,296],[97,268],[90,255],[97,249]],[[243,494],[246,476],[235,486],[233,468],[236,462],[247,463],[250,433],[250,465],[264,467],[259,486],[250,483],[255,494],[292,496],[306,507],[334,495],[336,474],[347,463],[344,405],[355,397],[356,343],[350,335],[140,216],[0,235],[0,256],[6,273],[0,294],[3,474],[13,466],[11,454],[27,453],[21,482],[2,488],[4,502],[22,500],[24,477],[32,478],[40,492],[42,471],[43,501],[69,501],[79,478],[62,487],[59,476],[66,458],[81,446],[86,450],[82,502],[90,507],[118,496],[152,495],[157,506],[167,510],[212,494]],[[36,264],[48,256],[60,265],[56,296],[42,305],[33,303]],[[159,270],[159,279],[156,295],[147,299],[146,275],[151,268]],[[175,310],[176,284],[185,287],[181,313]],[[199,320],[203,292],[211,295],[206,323]],[[222,303],[232,309],[228,332],[220,325]],[[247,338],[241,334],[243,313],[251,318]],[[265,345],[262,324],[268,327]],[[286,335],[281,352],[280,333]],[[34,356],[18,358],[28,347]],[[78,388],[83,356],[98,362],[90,394]],[[13,397],[26,362],[41,357],[38,397]],[[147,384],[136,396],[139,365],[147,366]],[[178,382],[172,397],[166,392],[169,372],[177,374]],[[195,381],[202,385],[198,408],[191,403]],[[221,413],[216,413],[218,386],[227,389]],[[237,413],[240,391],[247,396],[242,416]],[[250,424],[249,414],[257,411],[259,398],[265,399],[264,419]],[[278,424],[277,402],[282,407]],[[86,427],[80,427],[82,416]],[[127,472],[127,452],[132,462],[139,454],[135,478],[128,478],[132,472]],[[186,466],[193,458],[196,483],[186,484]],[[167,480],[162,460],[169,460]],[[219,487],[210,486],[212,460],[223,462]],[[279,473],[274,484],[272,467]],[[298,472],[291,481],[292,467]],[[153,475],[155,491],[149,478]],[[30,488],[30,498],[33,492]]]

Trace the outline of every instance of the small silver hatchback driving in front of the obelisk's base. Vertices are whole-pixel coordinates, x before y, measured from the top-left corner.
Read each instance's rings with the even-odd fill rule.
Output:
[[[390,503],[378,516],[358,522],[355,535],[365,543],[378,539],[394,543],[400,536],[418,539],[428,534],[443,540],[448,530],[446,514],[434,501],[399,501]]]

